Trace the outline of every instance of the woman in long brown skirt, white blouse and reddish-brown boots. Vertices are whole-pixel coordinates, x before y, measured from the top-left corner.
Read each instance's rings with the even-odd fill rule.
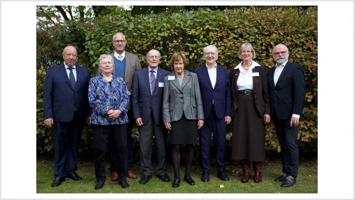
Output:
[[[240,160],[242,182],[250,178],[251,163],[254,182],[261,182],[265,161],[265,123],[270,122],[270,102],[266,69],[254,62],[250,43],[242,44],[239,58],[243,61],[230,71],[232,90],[233,135],[232,160]]]

